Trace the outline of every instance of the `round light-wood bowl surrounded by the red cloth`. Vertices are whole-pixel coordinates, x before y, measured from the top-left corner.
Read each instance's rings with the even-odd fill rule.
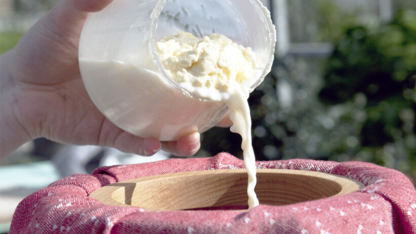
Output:
[[[147,211],[248,209],[246,169],[192,171],[121,181],[90,194],[101,203]],[[321,172],[257,169],[260,204],[288,205],[351,193],[359,181]]]

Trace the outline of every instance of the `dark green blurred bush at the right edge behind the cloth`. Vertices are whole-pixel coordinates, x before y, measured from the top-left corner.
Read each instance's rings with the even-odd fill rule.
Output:
[[[416,172],[416,11],[399,11],[375,28],[346,28],[327,60],[324,83],[322,102],[363,113],[354,155]],[[343,121],[354,121],[351,114]]]

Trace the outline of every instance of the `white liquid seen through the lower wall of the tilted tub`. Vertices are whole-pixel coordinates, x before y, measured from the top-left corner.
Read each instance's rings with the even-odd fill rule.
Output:
[[[227,111],[224,104],[184,95],[162,75],[133,63],[85,58],[79,63],[85,88],[97,108],[136,136],[174,141],[210,129]]]

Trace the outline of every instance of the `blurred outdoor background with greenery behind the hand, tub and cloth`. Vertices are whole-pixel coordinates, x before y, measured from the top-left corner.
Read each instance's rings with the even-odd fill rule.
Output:
[[[57,0],[2,0],[0,53]],[[278,31],[272,71],[251,94],[257,160],[366,161],[416,181],[416,1],[263,0]],[[195,157],[242,158],[228,128],[202,135]],[[0,233],[20,200],[97,166],[171,158],[37,139],[0,165]],[[30,181],[25,181],[30,178]]]

